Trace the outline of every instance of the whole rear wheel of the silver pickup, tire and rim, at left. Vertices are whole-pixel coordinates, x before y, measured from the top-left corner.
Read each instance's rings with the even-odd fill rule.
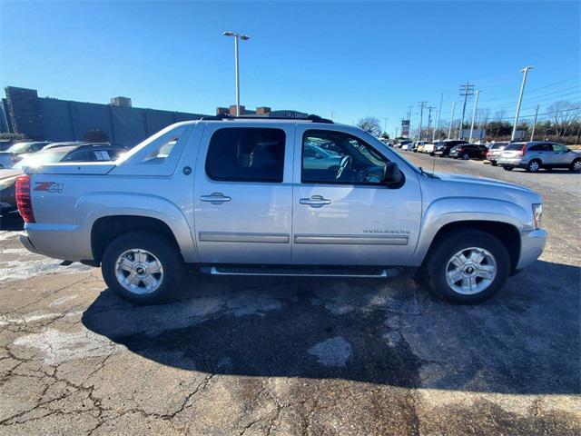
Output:
[[[148,233],[127,233],[103,253],[103,279],[123,300],[153,304],[167,300],[179,287],[184,265],[177,247]]]

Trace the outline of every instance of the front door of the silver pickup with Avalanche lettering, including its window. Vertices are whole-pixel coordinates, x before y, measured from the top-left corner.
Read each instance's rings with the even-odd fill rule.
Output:
[[[292,262],[405,264],[418,241],[418,175],[402,168],[405,183],[389,189],[381,183],[389,154],[379,153],[379,147],[385,146],[372,146],[340,129],[297,124]],[[321,156],[315,165],[308,154],[314,146],[334,158]]]

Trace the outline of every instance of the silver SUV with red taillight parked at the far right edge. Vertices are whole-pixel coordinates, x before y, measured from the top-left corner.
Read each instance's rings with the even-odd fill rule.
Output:
[[[574,152],[563,144],[545,141],[508,144],[498,158],[498,164],[507,171],[525,168],[529,173],[537,173],[541,168],[568,168],[574,173],[581,172],[581,153]]]

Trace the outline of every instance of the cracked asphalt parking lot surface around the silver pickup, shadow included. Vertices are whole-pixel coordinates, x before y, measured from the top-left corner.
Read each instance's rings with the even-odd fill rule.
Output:
[[[0,433],[579,434],[580,176],[402,153],[541,193],[546,252],[478,306],[405,277],[192,276],[135,307],[3,219]]]

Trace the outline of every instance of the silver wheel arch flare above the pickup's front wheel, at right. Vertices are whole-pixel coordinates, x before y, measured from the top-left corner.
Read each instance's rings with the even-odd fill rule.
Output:
[[[410,266],[421,265],[431,243],[442,227],[449,223],[463,221],[507,223],[514,226],[519,233],[535,228],[532,223],[532,213],[527,213],[516,203],[473,197],[441,198],[430,203],[424,213],[418,244]]]

